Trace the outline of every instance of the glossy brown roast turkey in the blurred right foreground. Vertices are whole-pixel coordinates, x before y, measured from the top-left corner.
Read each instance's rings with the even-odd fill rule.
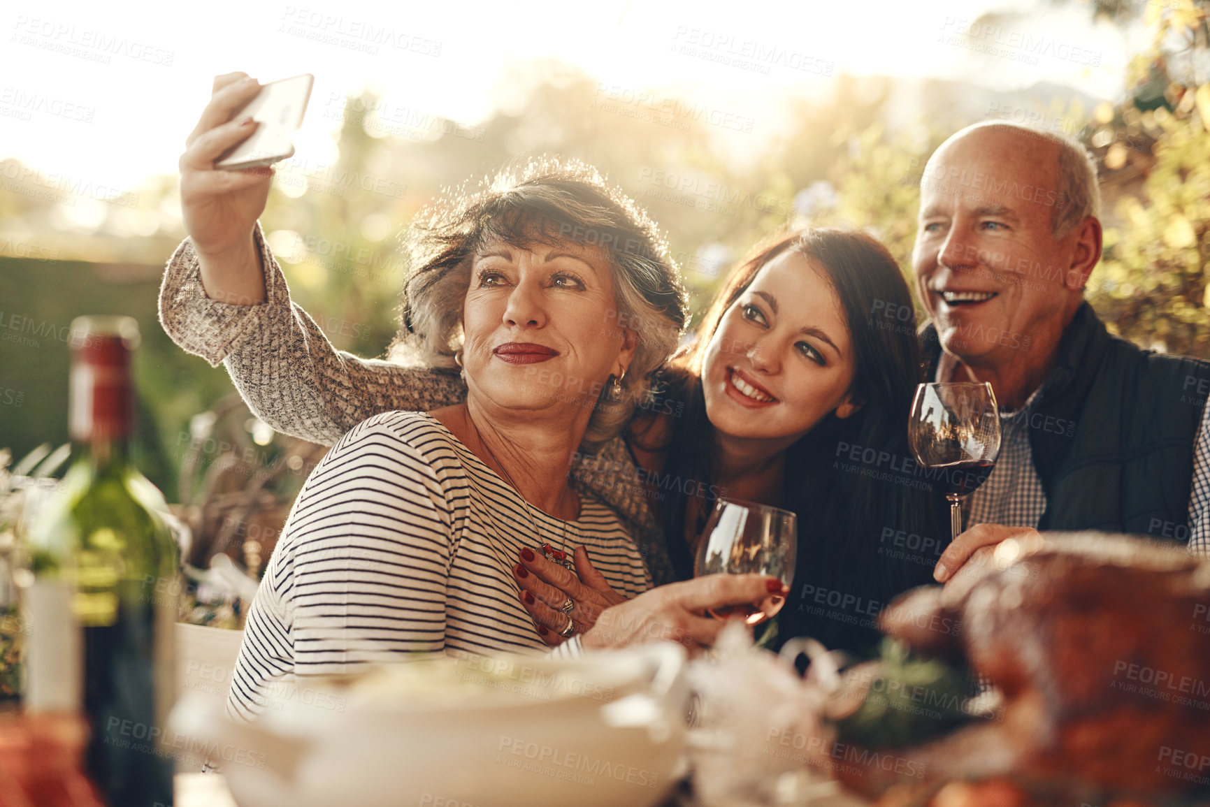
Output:
[[[1050,534],[909,592],[881,627],[964,661],[1002,703],[940,739],[849,754],[849,788],[883,805],[1210,805],[1210,561]]]

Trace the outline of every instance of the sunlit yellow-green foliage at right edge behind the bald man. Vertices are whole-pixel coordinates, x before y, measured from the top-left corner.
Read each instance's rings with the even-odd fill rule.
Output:
[[[1136,15],[1137,6],[1107,6]],[[1108,122],[1110,171],[1146,138],[1154,165],[1117,204],[1089,300],[1111,329],[1143,346],[1210,356],[1210,28],[1206,0],[1147,4],[1151,47],[1131,62],[1133,100]],[[1158,97],[1158,99],[1157,99]],[[1094,144],[1099,134],[1093,136]]]

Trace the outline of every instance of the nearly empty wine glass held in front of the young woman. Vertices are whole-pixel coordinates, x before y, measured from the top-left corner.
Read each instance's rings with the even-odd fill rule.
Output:
[[[786,586],[794,580],[794,558],[799,546],[799,519],[790,511],[719,498],[705,523],[697,548],[693,575],[770,575]],[[777,615],[785,598],[770,594],[760,603],[707,609],[716,618],[742,617],[760,624]]]

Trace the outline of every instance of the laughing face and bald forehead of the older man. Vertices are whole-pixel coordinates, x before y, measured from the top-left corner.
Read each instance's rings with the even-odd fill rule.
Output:
[[[1058,146],[999,126],[946,142],[921,181],[912,267],[941,347],[970,367],[1007,367],[1058,344],[1083,277],[1076,231],[1055,238]]]

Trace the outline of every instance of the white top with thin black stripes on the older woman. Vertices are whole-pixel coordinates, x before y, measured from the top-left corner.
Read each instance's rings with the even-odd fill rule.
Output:
[[[248,612],[229,711],[248,719],[299,697],[295,676],[408,653],[546,650],[513,580],[522,547],[582,544],[618,592],[651,588],[613,511],[581,501],[576,521],[528,505],[425,413],[363,421],[294,502]]]

